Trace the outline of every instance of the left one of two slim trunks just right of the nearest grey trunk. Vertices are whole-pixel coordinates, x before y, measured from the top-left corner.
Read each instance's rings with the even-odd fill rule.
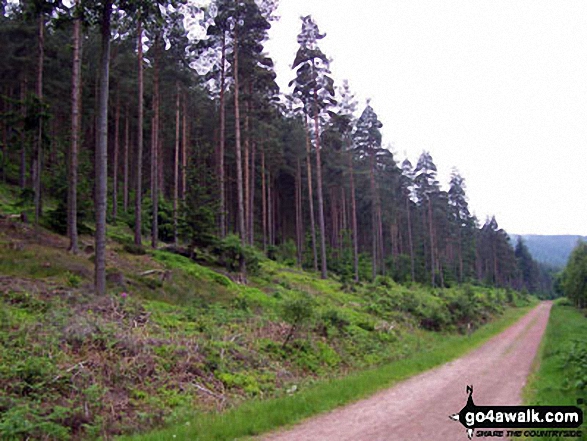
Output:
[[[136,194],[135,194],[135,245],[142,245],[141,218],[142,218],[142,186],[143,186],[143,28],[141,17],[138,22],[137,50],[139,65],[139,105],[137,120],[137,166],[136,166]]]

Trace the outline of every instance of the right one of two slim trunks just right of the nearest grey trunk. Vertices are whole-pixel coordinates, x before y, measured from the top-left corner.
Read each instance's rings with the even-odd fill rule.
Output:
[[[155,36],[155,63],[153,66],[153,142],[151,143],[151,203],[153,216],[151,218],[151,247],[157,248],[159,241],[159,40]]]

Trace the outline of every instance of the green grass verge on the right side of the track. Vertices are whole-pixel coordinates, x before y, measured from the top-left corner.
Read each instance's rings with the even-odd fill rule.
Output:
[[[587,399],[585,384],[578,384],[587,372],[571,359],[578,347],[587,348],[587,318],[562,299],[552,307],[548,326],[536,361],[536,370],[524,389],[524,401],[529,405],[576,405],[577,398]],[[587,414],[583,406],[583,414]],[[581,440],[587,440],[587,427],[582,428]],[[522,438],[529,440],[529,438]],[[532,438],[556,441],[559,438]],[[569,439],[569,438],[560,438]],[[577,438],[573,438],[577,439]]]

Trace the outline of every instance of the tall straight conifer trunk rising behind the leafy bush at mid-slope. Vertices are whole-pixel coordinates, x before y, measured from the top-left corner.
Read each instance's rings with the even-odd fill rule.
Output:
[[[238,27],[234,31],[234,126],[235,126],[235,145],[236,145],[236,187],[238,197],[238,231],[241,239],[241,245],[244,247],[246,242],[245,230],[245,207],[243,196],[243,163],[241,154],[241,130],[240,130],[240,103],[239,103],[239,72],[238,72]],[[239,259],[239,270],[243,281],[246,280],[246,263],[244,256],[241,254]]]

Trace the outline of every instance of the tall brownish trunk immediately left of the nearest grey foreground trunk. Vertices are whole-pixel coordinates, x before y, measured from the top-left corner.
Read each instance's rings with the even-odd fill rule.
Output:
[[[76,1],[76,7],[79,0]],[[68,250],[78,252],[77,234],[77,169],[81,123],[81,67],[82,67],[82,39],[81,18],[76,11],[73,21],[73,65],[71,74],[71,146],[69,150],[69,182],[67,189],[67,236],[69,237]]]

